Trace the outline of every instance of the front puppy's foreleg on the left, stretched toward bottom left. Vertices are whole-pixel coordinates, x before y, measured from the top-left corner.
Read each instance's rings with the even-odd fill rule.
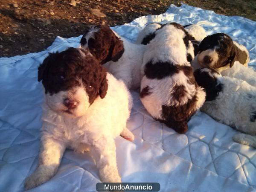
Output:
[[[41,185],[53,177],[58,169],[64,150],[65,145],[61,141],[44,136],[41,138],[38,168],[26,179],[26,190]]]

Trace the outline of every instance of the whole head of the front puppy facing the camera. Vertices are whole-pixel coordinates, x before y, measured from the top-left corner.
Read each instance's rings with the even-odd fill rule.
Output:
[[[38,67],[38,81],[44,85],[49,108],[71,117],[84,115],[108,90],[105,68],[88,51],[73,47],[50,53]]]

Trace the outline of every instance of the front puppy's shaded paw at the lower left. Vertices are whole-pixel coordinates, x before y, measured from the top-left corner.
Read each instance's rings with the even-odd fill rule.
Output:
[[[52,168],[39,166],[25,181],[25,189],[29,190],[47,182],[54,175]]]

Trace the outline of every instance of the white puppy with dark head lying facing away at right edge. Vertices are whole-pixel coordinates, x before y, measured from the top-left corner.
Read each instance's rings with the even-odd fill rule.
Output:
[[[244,132],[233,140],[256,148],[256,87],[209,68],[197,69],[194,75],[207,95],[201,111]]]

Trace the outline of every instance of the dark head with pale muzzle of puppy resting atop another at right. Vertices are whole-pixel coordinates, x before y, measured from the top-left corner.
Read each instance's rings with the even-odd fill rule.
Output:
[[[212,69],[232,67],[236,49],[230,36],[224,33],[209,35],[198,47],[198,63]]]

